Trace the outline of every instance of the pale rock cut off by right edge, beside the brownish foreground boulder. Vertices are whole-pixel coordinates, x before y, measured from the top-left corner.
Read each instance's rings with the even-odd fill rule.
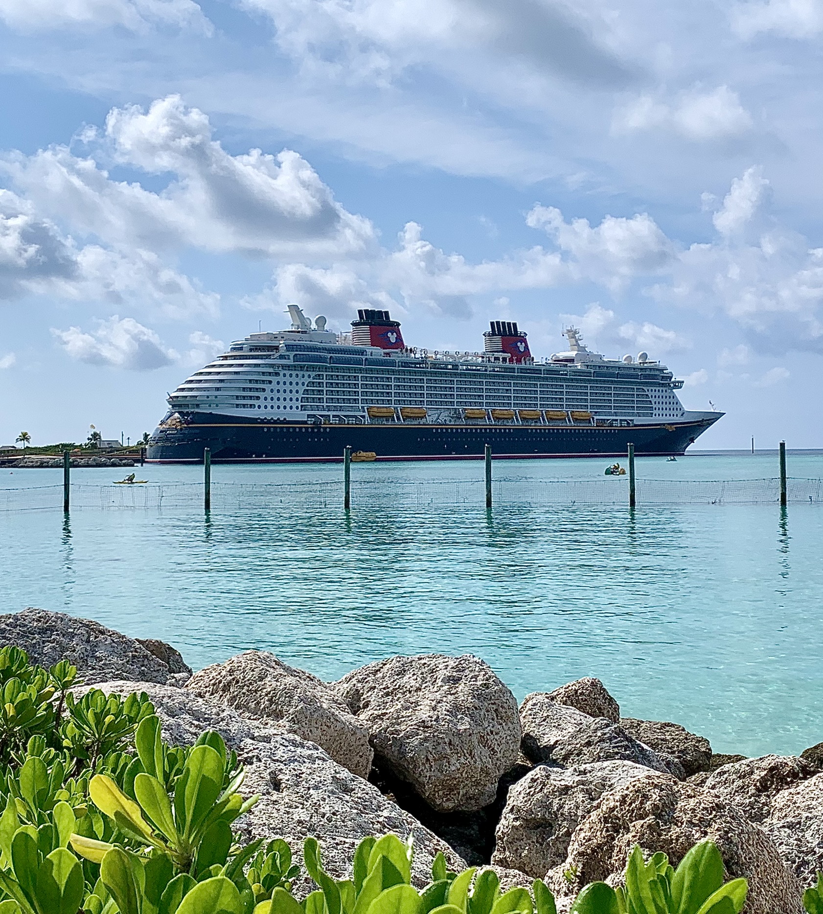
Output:
[[[779,792],[763,829],[803,887],[823,870],[823,774]]]

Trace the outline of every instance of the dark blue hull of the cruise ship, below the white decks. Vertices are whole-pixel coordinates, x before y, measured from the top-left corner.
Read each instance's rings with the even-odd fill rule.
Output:
[[[621,457],[629,442],[638,455],[679,455],[716,419],[655,425],[309,424],[240,420],[213,413],[180,414],[175,428],[155,430],[148,462],[197,463],[206,448],[215,462],[342,460],[343,451],[373,451],[378,460],[459,460],[496,457]]]

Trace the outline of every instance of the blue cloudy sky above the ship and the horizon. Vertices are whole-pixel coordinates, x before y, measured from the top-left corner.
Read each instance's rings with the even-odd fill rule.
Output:
[[[823,0],[5,0],[0,444],[133,439],[223,345],[517,320],[701,444],[823,446]]]

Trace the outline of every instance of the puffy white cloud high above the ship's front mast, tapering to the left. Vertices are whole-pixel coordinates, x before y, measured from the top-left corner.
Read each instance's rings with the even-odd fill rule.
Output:
[[[606,216],[593,228],[588,219],[566,222],[556,207],[537,205],[526,218],[531,228],[542,228],[572,259],[572,271],[612,292],[622,291],[637,273],[664,270],[675,247],[647,213],[632,218]]]

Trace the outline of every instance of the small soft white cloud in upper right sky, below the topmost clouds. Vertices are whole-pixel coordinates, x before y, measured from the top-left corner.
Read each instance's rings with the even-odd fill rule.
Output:
[[[753,127],[752,116],[728,86],[684,91],[672,102],[642,95],[615,114],[616,133],[664,129],[695,142],[728,140]]]

